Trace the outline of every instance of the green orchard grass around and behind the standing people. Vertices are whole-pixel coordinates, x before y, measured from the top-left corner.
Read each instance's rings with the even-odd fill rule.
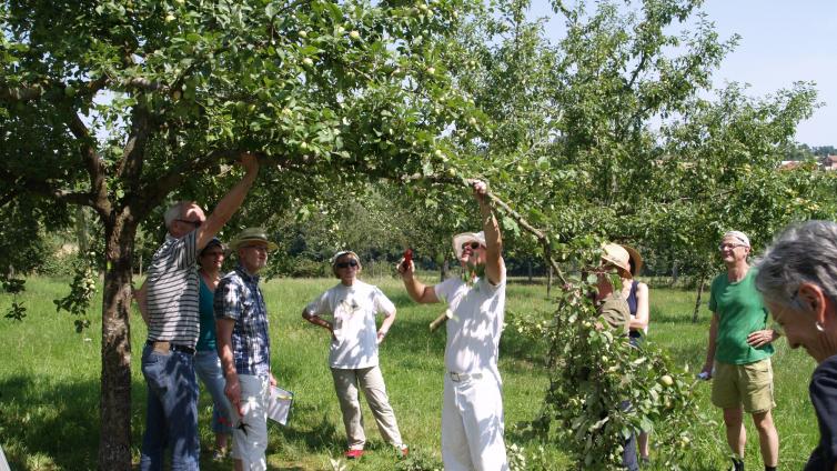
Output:
[[[424,273],[434,282],[437,274]],[[379,434],[364,402],[367,454],[347,462],[342,458],[345,434],[331,374],[327,369],[327,333],[304,322],[302,308],[336,280],[273,279],[264,284],[271,315],[272,367],[280,385],[295,393],[289,427],[271,422],[268,460],[271,469],[331,470],[331,459],[346,469],[387,470],[441,469],[440,422],[444,332],[428,332],[427,324],[442,311],[441,304],[418,305],[394,278],[366,280],[377,284],[399,308],[397,320],[381,345],[381,367],[410,458],[396,459],[394,450]],[[507,291],[507,321],[522,313],[553,309],[539,282],[512,280]],[[537,280],[536,280],[537,281]],[[27,308],[22,322],[0,319],[0,444],[14,470],[84,470],[97,468],[99,441],[99,377],[101,370],[101,287],[91,309],[91,328],[75,333],[73,318],[56,312],[53,299],[68,292],[69,280],[34,278],[21,295]],[[0,305],[10,304],[0,294]],[[666,351],[680,365],[697,373],[706,354],[709,312],[704,295],[699,322],[692,323],[694,291],[652,287],[648,341]],[[144,429],[145,384],[140,353],[145,327],[134,310],[131,318],[133,462],[139,462]],[[504,381],[506,441],[522,451],[528,469],[568,469],[561,444],[539,443],[522,431],[536,418],[546,385],[544,348],[521,338],[513,329],[504,332],[500,369]],[[774,414],[780,440],[780,467],[801,469],[818,439],[816,419],[808,402],[807,384],[815,367],[804,351],[791,351],[784,339],[774,355],[777,409]],[[722,414],[709,403],[708,382],[696,382],[705,423],[684,423],[695,430],[687,450],[686,469],[724,469],[728,461]],[[211,401],[200,401],[201,468],[228,470],[228,460],[213,462],[213,437],[209,428]],[[762,469],[758,435],[746,418],[748,469]],[[653,435],[652,435],[653,443]],[[654,459],[652,448],[652,460]],[[400,463],[400,464],[399,464]]]

